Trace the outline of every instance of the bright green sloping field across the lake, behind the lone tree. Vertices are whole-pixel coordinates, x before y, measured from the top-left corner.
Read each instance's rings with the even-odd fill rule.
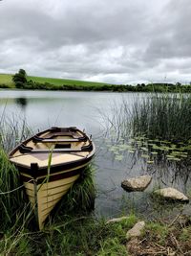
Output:
[[[12,82],[11,74],[0,74],[0,84],[5,84],[8,87],[13,88],[14,83]],[[108,83],[96,82],[96,81],[77,81],[77,80],[66,80],[66,79],[53,79],[53,78],[43,78],[43,77],[32,77],[28,76],[28,81],[35,81],[39,83],[48,82],[53,85],[76,85],[76,86],[101,86]]]

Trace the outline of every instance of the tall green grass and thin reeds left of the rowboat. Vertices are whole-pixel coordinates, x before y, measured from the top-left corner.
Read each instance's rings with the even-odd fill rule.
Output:
[[[29,134],[25,120],[6,117],[6,106],[0,118],[0,230],[26,225],[31,205],[25,195],[18,170],[11,164],[8,152]],[[28,222],[29,223],[29,222]]]

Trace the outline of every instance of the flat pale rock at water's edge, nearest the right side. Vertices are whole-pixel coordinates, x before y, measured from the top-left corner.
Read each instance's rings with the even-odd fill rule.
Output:
[[[183,195],[179,190],[170,188],[170,187],[164,188],[164,189],[158,189],[154,191],[154,194],[159,195],[160,197],[166,198],[166,199],[180,200],[184,202],[189,201],[189,198]]]

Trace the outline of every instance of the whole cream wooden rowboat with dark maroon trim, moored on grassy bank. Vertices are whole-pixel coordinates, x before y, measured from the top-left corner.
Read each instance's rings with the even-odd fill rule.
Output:
[[[49,128],[11,151],[11,163],[19,170],[39,229],[94,154],[91,138],[77,128]]]

